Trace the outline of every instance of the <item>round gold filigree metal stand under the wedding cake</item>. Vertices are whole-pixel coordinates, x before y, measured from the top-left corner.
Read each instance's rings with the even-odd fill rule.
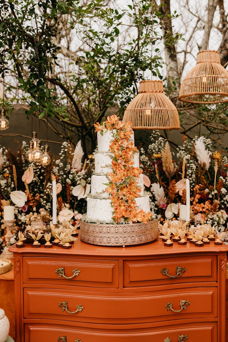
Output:
[[[129,246],[156,240],[158,220],[133,224],[96,224],[81,221],[80,238],[92,245]]]

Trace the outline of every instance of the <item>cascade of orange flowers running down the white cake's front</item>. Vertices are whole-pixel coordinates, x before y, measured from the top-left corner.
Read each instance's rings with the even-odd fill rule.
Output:
[[[114,222],[118,223],[124,219],[135,223],[148,223],[152,214],[146,213],[143,209],[136,209],[135,198],[141,191],[136,180],[142,170],[134,167],[133,154],[137,151],[137,147],[130,141],[133,134],[131,126],[130,122],[122,122],[116,115],[108,116],[101,125],[98,122],[94,124],[96,132],[116,130],[109,145],[110,152],[114,154],[113,172],[109,173],[110,183],[106,188],[107,193],[111,194]]]

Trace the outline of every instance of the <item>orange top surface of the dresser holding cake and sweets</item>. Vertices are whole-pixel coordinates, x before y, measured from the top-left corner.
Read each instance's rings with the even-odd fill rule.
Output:
[[[15,244],[9,248],[9,251],[13,253],[29,253],[29,254],[65,254],[66,256],[74,255],[95,255],[95,256],[110,256],[110,257],[124,257],[124,256],[143,256],[143,255],[170,255],[170,254],[183,254],[183,253],[225,253],[228,251],[228,245],[224,243],[222,245],[215,245],[214,241],[210,241],[210,245],[204,245],[202,247],[197,247],[190,242],[187,245],[180,246],[177,242],[173,243],[172,247],[165,247],[162,239],[157,238],[157,240],[149,242],[144,245],[137,246],[96,246],[90,245],[86,242],[80,240],[79,238],[72,245],[70,249],[63,249],[59,246],[53,246],[52,248],[44,248],[41,245],[39,248],[33,248],[31,244],[26,244],[24,248],[16,248]]]

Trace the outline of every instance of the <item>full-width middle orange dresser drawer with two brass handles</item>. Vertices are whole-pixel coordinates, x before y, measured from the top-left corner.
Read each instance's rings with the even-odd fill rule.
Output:
[[[24,289],[24,318],[122,324],[196,317],[217,317],[217,288],[134,293]]]

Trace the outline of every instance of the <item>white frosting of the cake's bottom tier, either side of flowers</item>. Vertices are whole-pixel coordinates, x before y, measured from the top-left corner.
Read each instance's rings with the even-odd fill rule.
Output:
[[[135,199],[137,208],[143,209],[145,212],[150,211],[149,196],[137,197]],[[87,218],[91,222],[97,220],[110,222],[112,220],[113,207],[109,198],[87,198]],[[94,220],[94,221],[93,221]]]

